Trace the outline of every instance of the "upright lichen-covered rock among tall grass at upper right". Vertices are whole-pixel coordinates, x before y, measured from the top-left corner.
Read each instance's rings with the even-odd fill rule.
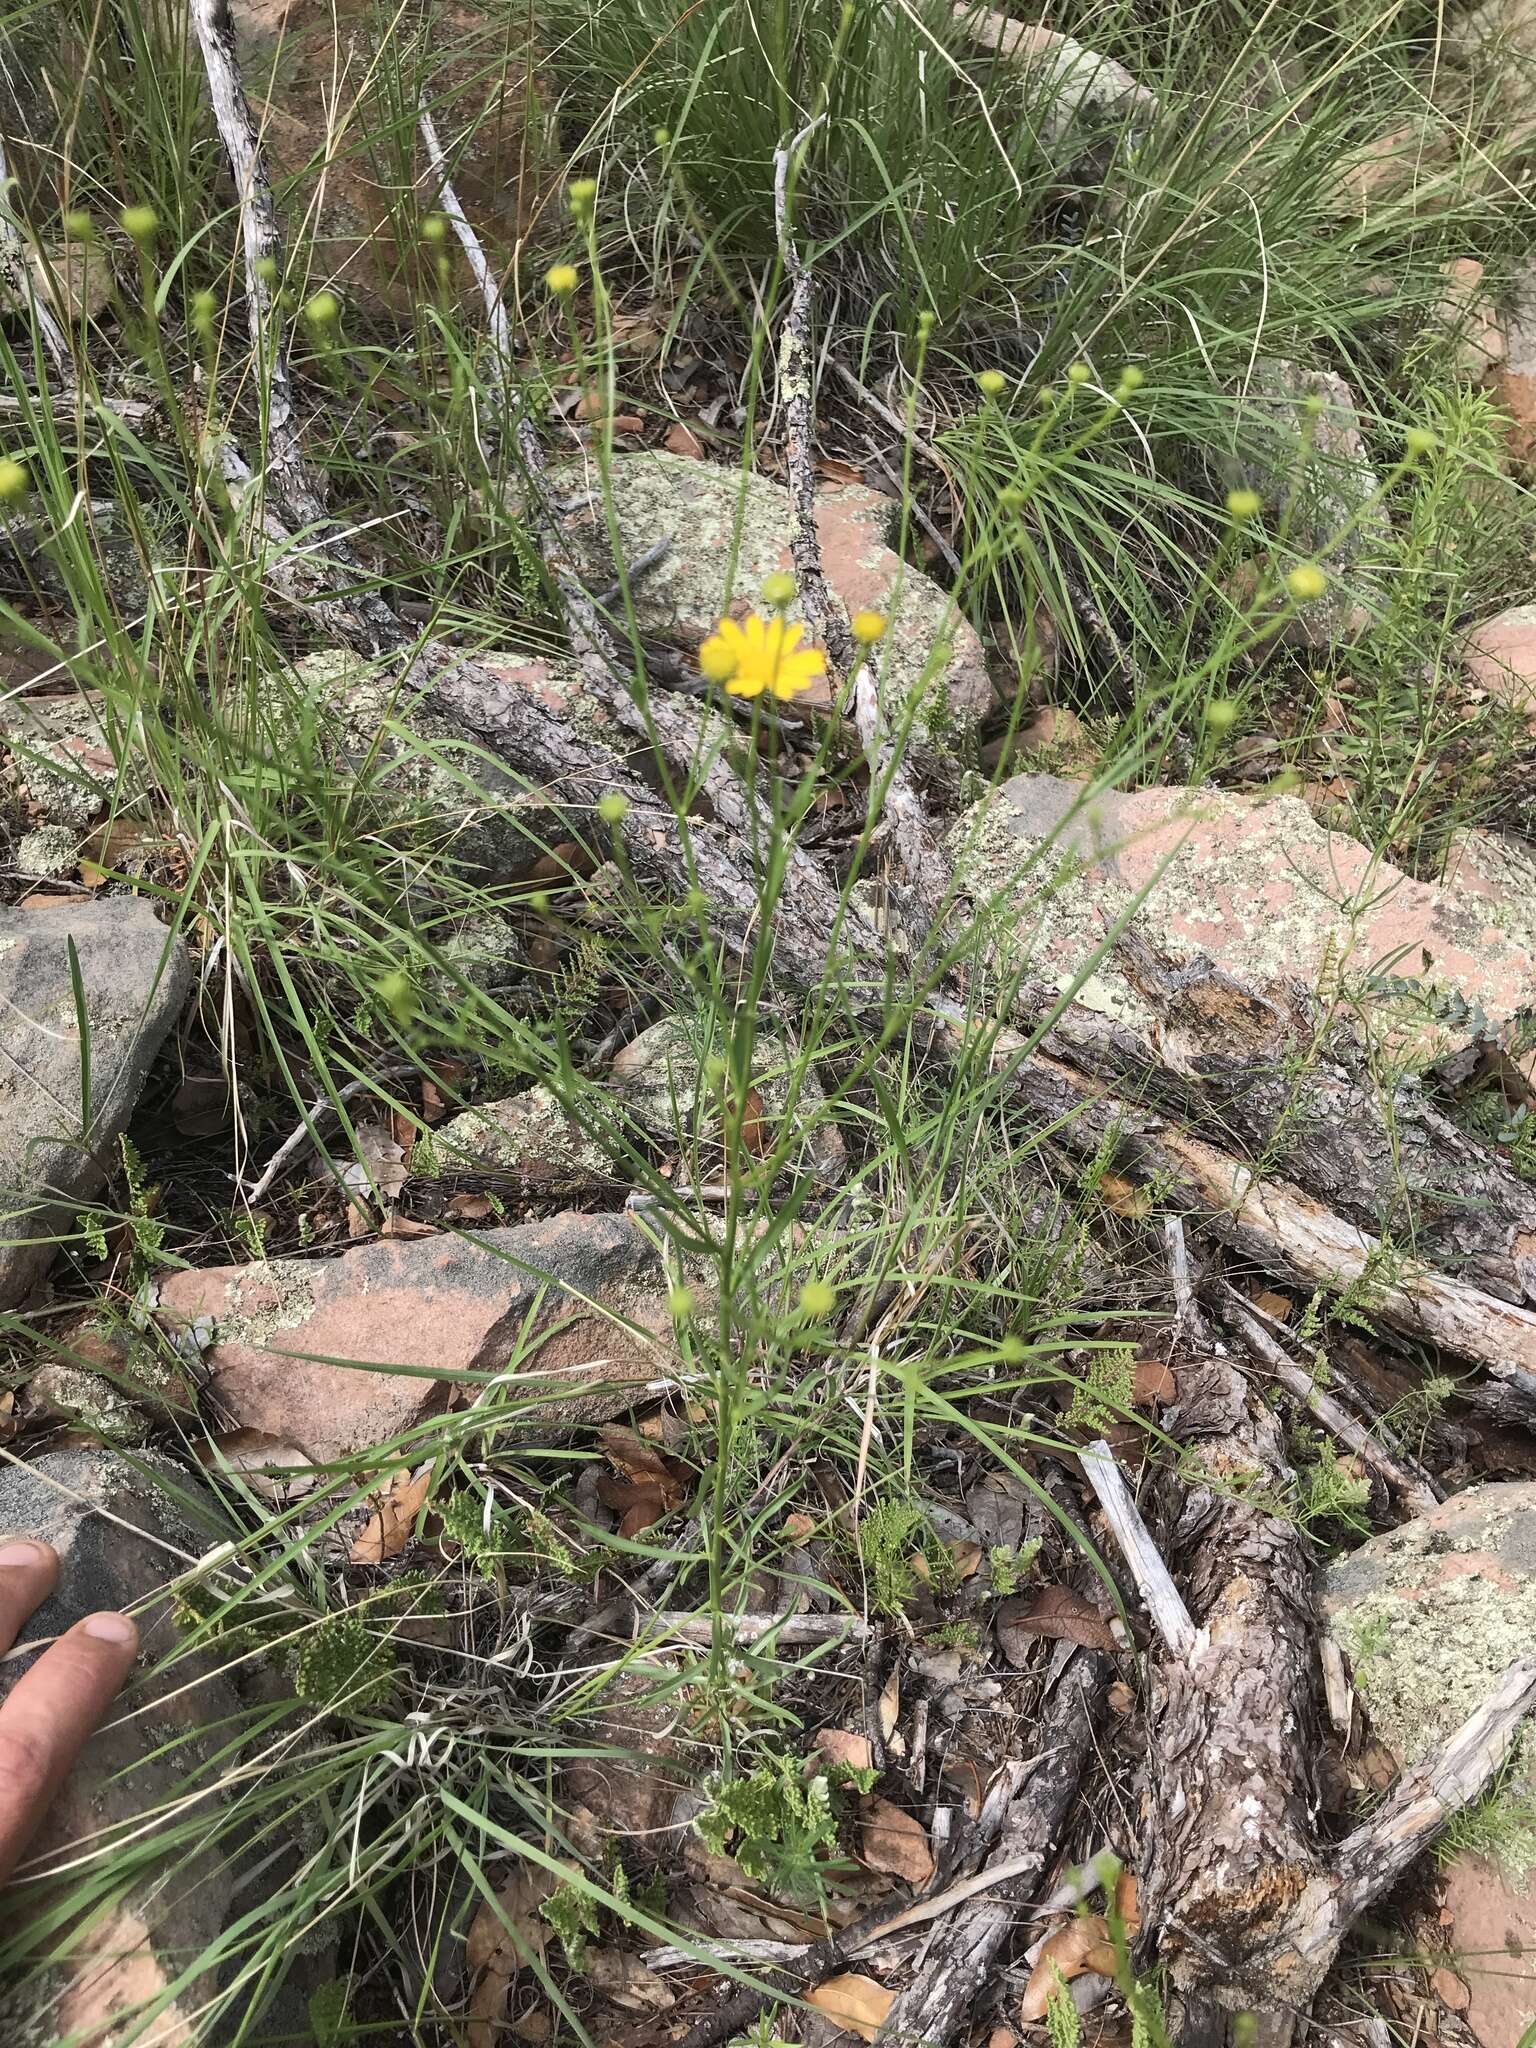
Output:
[[[1303,604],[1282,637],[1333,647],[1364,633],[1384,604],[1391,530],[1350,385],[1331,371],[1260,362],[1237,418],[1235,481],[1272,510],[1288,506],[1290,547],[1329,575],[1327,592]]]

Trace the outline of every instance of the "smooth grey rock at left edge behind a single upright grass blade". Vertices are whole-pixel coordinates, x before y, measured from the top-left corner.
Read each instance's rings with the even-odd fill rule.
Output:
[[[90,1034],[82,1102],[74,940]],[[106,1180],[150,1061],[190,987],[180,940],[147,903],[113,899],[0,911],[0,1309],[47,1270],[70,1208]]]

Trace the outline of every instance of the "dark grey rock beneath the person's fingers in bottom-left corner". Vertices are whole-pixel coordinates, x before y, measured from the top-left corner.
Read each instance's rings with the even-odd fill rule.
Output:
[[[57,1593],[25,1622],[20,1642],[41,1642],[102,1608],[133,1608],[143,1634],[119,1710],[86,1745],[35,1841],[37,1853],[61,1855],[102,1829],[127,1835],[143,1815],[170,1806],[229,1739],[240,1700],[225,1677],[199,1657],[154,1669],[176,1642],[166,1581],[182,1554],[199,1554],[227,1532],[203,1489],[170,1462],[145,1454],[129,1466],[102,1450],[49,1452],[0,1470],[0,1532],[51,1542],[63,1565]],[[0,1667],[0,1696],[33,1661]],[[219,1806],[211,1796],[209,1837]],[[201,1849],[168,1851],[82,1929],[68,1966],[10,1982],[0,1995],[4,2040],[45,2048],[88,2036],[111,2048],[131,2032],[133,2011],[217,1939],[233,1898],[227,1845],[209,1839]],[[158,2038],[217,2040],[193,2019],[213,1991],[213,1972],[178,1991]]]

